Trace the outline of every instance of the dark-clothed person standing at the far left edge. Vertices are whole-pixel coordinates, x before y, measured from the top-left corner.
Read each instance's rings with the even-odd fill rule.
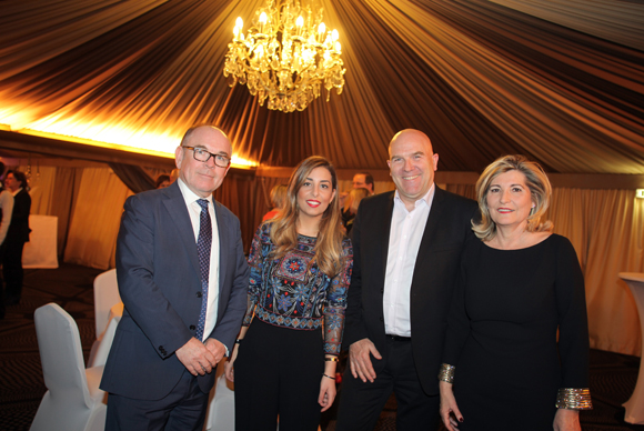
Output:
[[[31,211],[31,197],[28,192],[27,177],[16,170],[7,172],[4,186],[13,196],[13,211],[11,222],[7,230],[2,253],[2,275],[6,283],[7,305],[20,302],[22,295],[22,249],[29,241],[29,212]]]

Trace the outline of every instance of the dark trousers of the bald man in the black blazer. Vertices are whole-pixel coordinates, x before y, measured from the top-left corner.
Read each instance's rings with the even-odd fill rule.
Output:
[[[439,395],[423,392],[412,355],[411,340],[386,338],[383,361],[371,357],[376,378],[373,383],[353,378],[346,367],[342,379],[342,392],[338,412],[336,431],[371,431],[380,413],[395,393],[398,402],[396,430],[436,430],[439,425]]]

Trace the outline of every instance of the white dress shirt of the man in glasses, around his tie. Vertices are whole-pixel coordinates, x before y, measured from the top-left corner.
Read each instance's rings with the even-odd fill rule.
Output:
[[[208,198],[202,198],[195,194],[192,190],[185,186],[181,178],[177,179],[179,183],[179,189],[183,199],[185,200],[185,207],[188,207],[188,213],[190,214],[190,221],[192,222],[192,231],[194,232],[194,242],[199,239],[199,229],[201,225],[201,207],[197,202],[200,199],[208,200],[208,212],[210,213],[210,222],[212,223],[212,247],[210,248],[210,272],[208,274],[208,305],[205,309],[205,325],[203,328],[203,340],[214,329],[214,323],[217,322],[217,309],[219,304],[219,230],[217,229],[217,216],[214,213],[214,200],[212,194]],[[199,317],[198,317],[199,318]]]

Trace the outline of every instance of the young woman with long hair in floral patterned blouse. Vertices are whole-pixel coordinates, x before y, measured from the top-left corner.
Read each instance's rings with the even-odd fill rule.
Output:
[[[326,159],[305,159],[281,212],[255,232],[248,310],[225,364],[238,431],[274,431],[278,417],[280,431],[316,430],[333,404],[353,265],[336,189]]]

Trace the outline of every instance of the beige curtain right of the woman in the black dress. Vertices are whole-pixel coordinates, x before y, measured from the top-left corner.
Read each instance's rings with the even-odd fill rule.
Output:
[[[591,347],[641,355],[634,299],[620,272],[644,272],[644,200],[634,190],[555,189],[550,218],[577,251]]]

